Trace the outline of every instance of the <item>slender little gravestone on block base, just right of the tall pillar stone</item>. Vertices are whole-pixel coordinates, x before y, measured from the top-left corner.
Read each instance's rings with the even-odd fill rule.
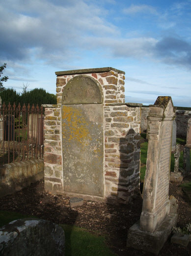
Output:
[[[179,172],[179,158],[180,158],[180,145],[177,144],[174,152],[174,172],[170,173],[170,181],[172,182],[182,182],[183,175]]]

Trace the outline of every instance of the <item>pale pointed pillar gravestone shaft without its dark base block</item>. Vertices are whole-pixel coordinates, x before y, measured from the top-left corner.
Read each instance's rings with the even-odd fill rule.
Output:
[[[175,109],[171,97],[167,96],[159,96],[149,108],[148,153],[140,230],[154,232],[169,214],[168,188]]]

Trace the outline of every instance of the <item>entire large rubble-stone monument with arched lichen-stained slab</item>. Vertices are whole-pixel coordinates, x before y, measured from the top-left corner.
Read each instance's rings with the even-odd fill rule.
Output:
[[[57,105],[44,105],[45,189],[127,204],[138,192],[141,104],[125,103],[124,72],[56,72]]]

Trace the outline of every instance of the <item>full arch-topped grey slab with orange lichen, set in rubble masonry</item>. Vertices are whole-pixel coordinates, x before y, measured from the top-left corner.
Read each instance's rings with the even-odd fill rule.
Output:
[[[78,75],[62,95],[64,190],[103,196],[103,97],[94,79]]]

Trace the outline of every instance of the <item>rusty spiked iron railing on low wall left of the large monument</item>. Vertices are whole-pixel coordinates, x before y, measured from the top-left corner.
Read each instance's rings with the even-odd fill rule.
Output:
[[[0,165],[43,157],[43,107],[0,105]]]

